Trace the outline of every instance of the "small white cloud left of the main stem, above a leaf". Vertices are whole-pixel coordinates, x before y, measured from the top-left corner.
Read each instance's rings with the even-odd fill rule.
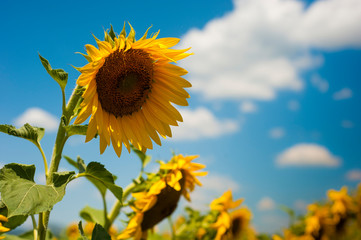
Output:
[[[28,108],[26,111],[14,120],[17,127],[29,123],[36,127],[43,127],[46,131],[53,132],[58,128],[59,120],[54,115],[44,111],[41,108]]]

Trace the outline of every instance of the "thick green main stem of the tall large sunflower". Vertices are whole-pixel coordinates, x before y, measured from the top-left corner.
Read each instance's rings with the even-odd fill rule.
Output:
[[[79,94],[80,88],[81,87],[77,86],[74,89],[66,108],[64,109],[64,107],[63,107],[63,115],[61,117],[59,128],[58,128],[58,133],[56,135],[56,140],[55,140],[55,144],[54,144],[54,148],[53,148],[53,155],[51,157],[50,167],[49,167],[49,170],[47,171],[47,173],[48,173],[47,179],[46,179],[47,185],[52,184],[53,173],[58,171],[59,163],[60,163],[61,156],[62,156],[63,149],[64,149],[64,145],[65,145],[66,140],[68,139],[68,136],[67,136],[66,130],[65,130],[65,126],[67,126],[69,124],[70,118],[72,117],[73,112],[74,112],[74,108],[76,107],[76,105],[81,97],[81,94]],[[50,216],[50,211],[39,214],[38,233],[39,233],[40,240],[45,240],[46,231],[47,231],[48,223],[49,223],[49,216]],[[40,224],[40,223],[42,223],[42,224]]]

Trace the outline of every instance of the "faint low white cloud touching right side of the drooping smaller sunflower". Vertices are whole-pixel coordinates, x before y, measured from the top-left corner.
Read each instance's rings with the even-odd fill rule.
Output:
[[[240,185],[229,176],[219,175],[214,172],[198,179],[202,183],[202,187],[192,192],[192,201],[186,203],[186,205],[198,210],[209,210],[209,204],[213,199],[220,197],[229,189],[232,190],[233,194],[240,189]]]

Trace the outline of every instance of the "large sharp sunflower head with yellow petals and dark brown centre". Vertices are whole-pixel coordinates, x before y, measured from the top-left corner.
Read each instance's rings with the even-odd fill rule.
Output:
[[[85,91],[75,124],[91,115],[86,142],[98,133],[100,153],[112,143],[118,156],[122,143],[128,151],[130,144],[145,151],[153,147],[151,139],[161,145],[159,135],[171,137],[170,125],[183,120],[172,103],[188,105],[184,88],[191,87],[181,77],[187,71],[172,64],[191,55],[171,49],[178,38],[156,39],[159,31],[147,38],[147,30],[136,41],[130,28],[128,36],[124,28],[119,35],[105,31],[104,41],[95,38],[98,48],[85,45],[89,63],[78,68],[77,84]]]

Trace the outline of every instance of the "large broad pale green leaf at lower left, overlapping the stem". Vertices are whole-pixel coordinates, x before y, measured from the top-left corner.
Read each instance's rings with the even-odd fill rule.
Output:
[[[33,165],[7,164],[0,170],[2,202],[8,209],[8,217],[38,214],[49,211],[59,202],[74,172],[54,173],[52,185],[39,185],[32,179]]]

